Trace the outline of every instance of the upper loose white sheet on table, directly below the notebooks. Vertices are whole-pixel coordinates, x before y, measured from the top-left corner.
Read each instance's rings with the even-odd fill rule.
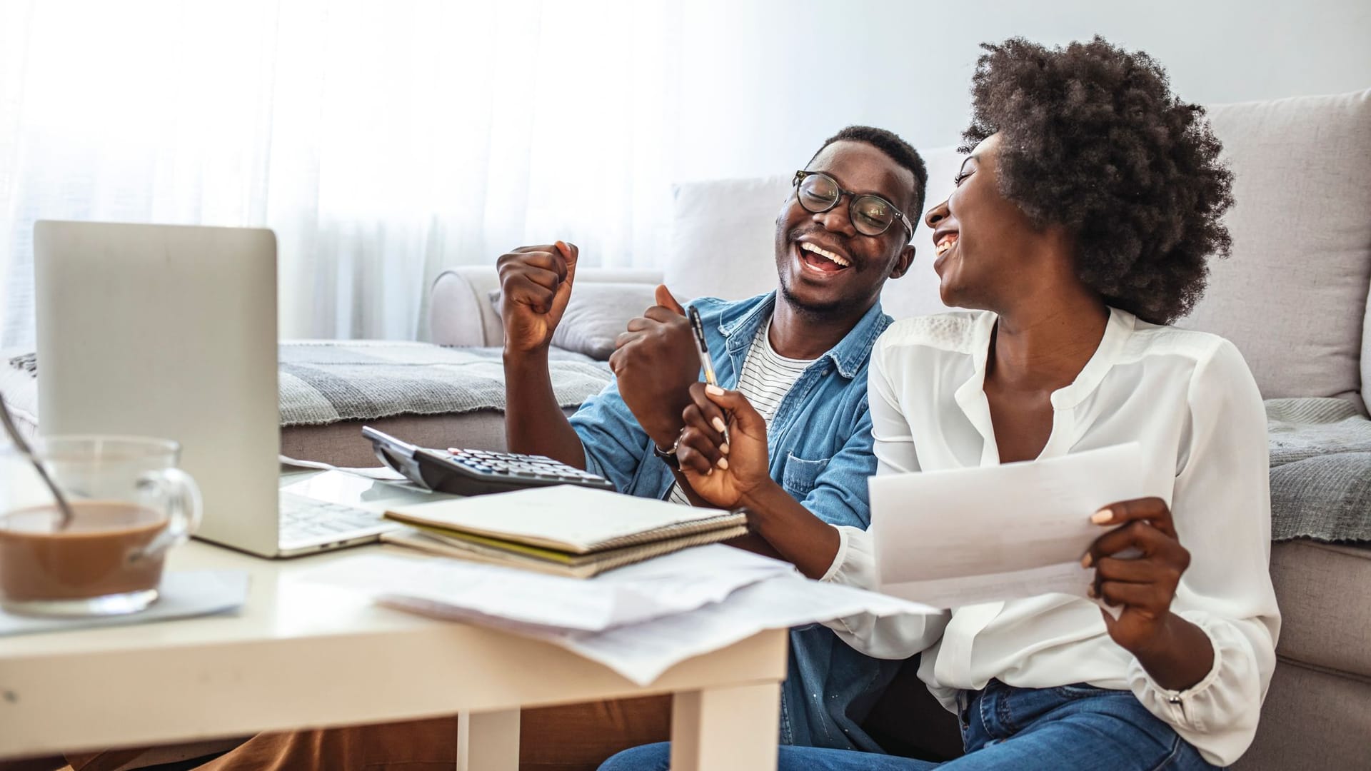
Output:
[[[636,565],[573,579],[443,557],[367,554],[299,578],[361,590],[462,617],[503,619],[544,630],[603,631],[694,610],[733,590],[792,573],[788,562],[731,546],[686,549]]]

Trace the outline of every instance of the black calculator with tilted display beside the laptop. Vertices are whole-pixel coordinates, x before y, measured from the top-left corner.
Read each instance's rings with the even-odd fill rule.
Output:
[[[362,427],[362,436],[372,440],[376,457],[424,490],[454,495],[509,493],[525,487],[579,484],[614,490],[603,476],[584,472],[546,455],[491,453],[487,450],[430,450],[410,444],[372,428]]]

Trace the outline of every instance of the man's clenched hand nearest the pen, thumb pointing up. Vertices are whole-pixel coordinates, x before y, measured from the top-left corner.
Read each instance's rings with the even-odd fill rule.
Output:
[[[670,447],[691,403],[690,384],[699,381],[699,348],[686,309],[665,285],[657,287],[657,305],[628,322],[614,348],[609,368],[618,394],[653,442]]]

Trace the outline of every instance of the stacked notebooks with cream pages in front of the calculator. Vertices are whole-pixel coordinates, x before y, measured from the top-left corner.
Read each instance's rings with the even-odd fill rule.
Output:
[[[742,512],[576,486],[398,506],[385,516],[413,525],[384,535],[391,543],[574,578],[747,532]]]

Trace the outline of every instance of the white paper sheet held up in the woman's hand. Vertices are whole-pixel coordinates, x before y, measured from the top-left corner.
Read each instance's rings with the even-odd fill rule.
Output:
[[[1094,571],[1080,558],[1106,532],[1090,516],[1142,495],[1135,442],[1043,461],[873,476],[880,589],[938,608],[1086,597]]]

